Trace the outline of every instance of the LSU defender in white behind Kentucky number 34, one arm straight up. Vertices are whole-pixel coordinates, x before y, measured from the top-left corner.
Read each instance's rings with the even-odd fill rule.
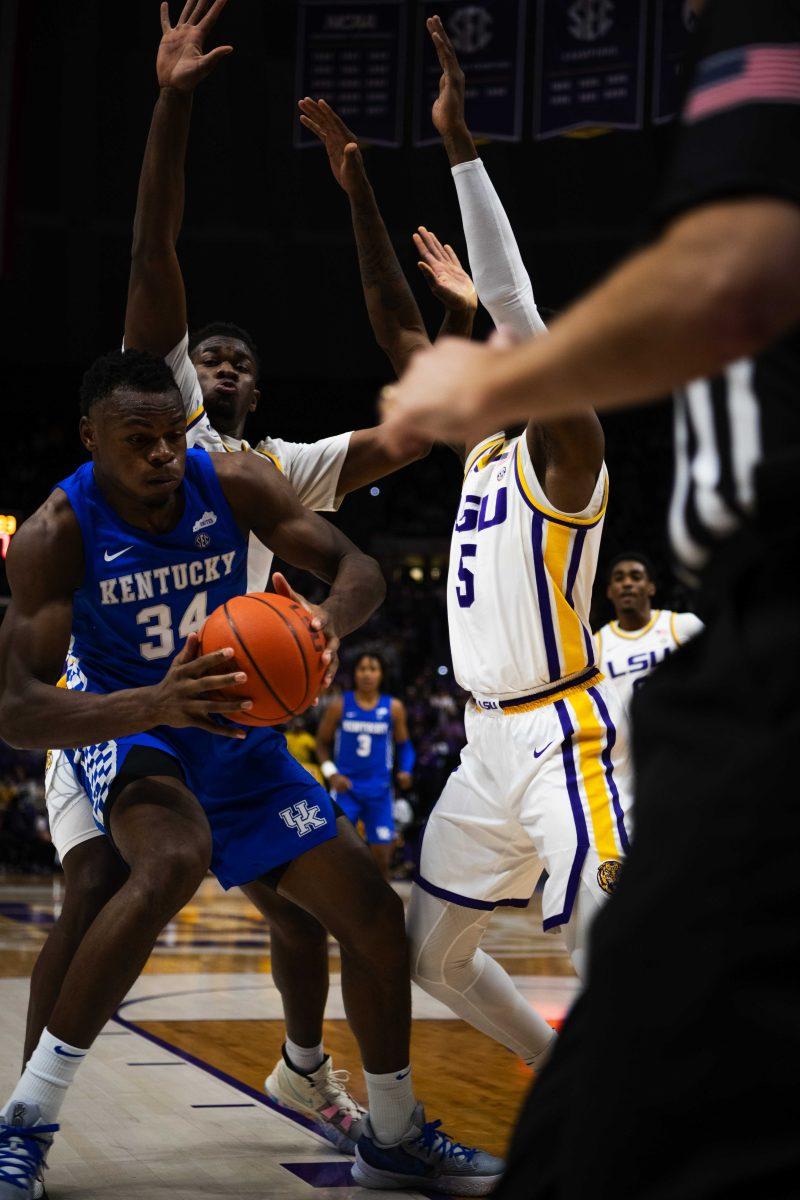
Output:
[[[204,38],[223,6],[215,4],[200,20],[203,12],[197,7],[192,12],[188,5],[174,28],[168,19],[162,20],[157,60],[161,95],[139,181],[125,342],[166,358],[184,398],[190,445],[260,454],[287,475],[305,505],[331,511],[344,494],[419,458],[428,446],[411,438],[399,452],[387,451],[380,426],[311,444],[270,437],[251,446],[243,439],[245,422],[260,398],[259,355],[253,338],[236,325],[216,323],[196,334],[190,348],[175,242],[184,210],[191,94],[224,56],[224,47],[201,53]],[[469,299],[468,283],[461,271],[461,295],[443,296],[455,318],[447,322],[449,332],[469,334],[471,328],[474,306],[462,304],[463,296]],[[416,317],[411,313],[413,319],[404,318],[401,306],[390,331],[390,343],[397,346],[398,355],[410,353],[416,344],[429,344],[419,310],[413,308]],[[251,590],[266,587],[271,560],[271,552],[251,538]],[[65,868],[65,899],[31,978],[25,1061],[38,1042],[84,931],[126,877],[106,839],[98,835],[91,804],[62,751],[48,756],[46,787],[50,832]],[[287,1019],[283,1056],[269,1074],[267,1090],[284,1106],[313,1116],[338,1148],[351,1153],[350,1130],[356,1128],[362,1110],[349,1096],[343,1073],[333,1072],[321,1039],[329,986],[327,936],[308,913],[267,886],[257,881],[245,890],[270,922],[272,977]]]

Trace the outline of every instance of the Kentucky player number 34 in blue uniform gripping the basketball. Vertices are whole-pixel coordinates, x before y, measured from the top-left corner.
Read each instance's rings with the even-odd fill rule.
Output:
[[[500,1160],[426,1123],[414,1097],[402,904],[285,740],[221,720],[249,707],[212,698],[246,682],[230,671],[233,650],[198,656],[206,612],[246,590],[251,532],[331,583],[323,605],[307,606],[327,680],[339,635],[384,596],[377,563],[258,456],[187,450],[180,395],[152,355],[115,352],[90,368],[80,434],[92,461],[53,491],[8,556],[0,734],[80,748],[72,764],[130,875],[84,936],[4,1108],[0,1200],[32,1196],[80,1062],[209,866],[224,887],[270,883],[342,947],[372,1112],[357,1182],[491,1190]]]

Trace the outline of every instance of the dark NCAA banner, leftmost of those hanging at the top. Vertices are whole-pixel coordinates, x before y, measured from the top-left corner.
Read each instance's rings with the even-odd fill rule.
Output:
[[[326,100],[365,142],[403,140],[403,0],[301,0],[297,97]],[[295,121],[295,145],[319,142]]]

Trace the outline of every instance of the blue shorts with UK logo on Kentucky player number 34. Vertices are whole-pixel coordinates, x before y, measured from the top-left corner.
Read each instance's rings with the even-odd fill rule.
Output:
[[[245,740],[234,740],[167,726],[67,751],[103,833],[109,832],[109,790],[137,746],[178,761],[209,820],[211,870],[225,889],[251,883],[336,836],[330,796],[291,757],[282,733],[248,728]]]

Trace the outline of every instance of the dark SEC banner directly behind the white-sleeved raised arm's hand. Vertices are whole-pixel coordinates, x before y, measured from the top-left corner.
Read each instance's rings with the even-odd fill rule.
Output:
[[[467,124],[476,137],[519,142],[522,137],[527,0],[421,0],[417,4],[414,144],[439,136],[431,108],[439,95],[441,68],[425,26],[439,16],[467,76]]]

